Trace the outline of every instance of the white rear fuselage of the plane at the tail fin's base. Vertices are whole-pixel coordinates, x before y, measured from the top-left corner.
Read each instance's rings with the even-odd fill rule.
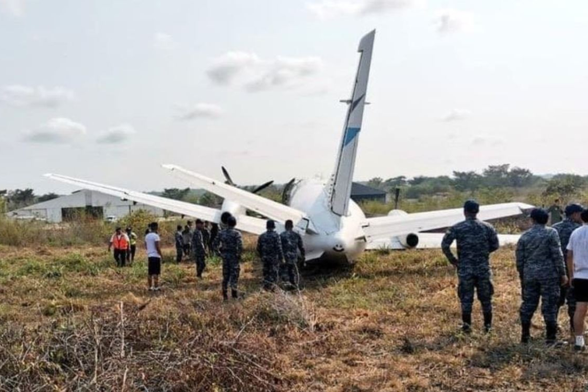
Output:
[[[316,234],[302,236],[308,258],[322,254],[323,258],[353,261],[366,248],[363,226],[366,217],[359,206],[350,200],[347,216],[339,216],[329,208],[325,183],[302,180],[290,192],[289,205],[305,212]]]

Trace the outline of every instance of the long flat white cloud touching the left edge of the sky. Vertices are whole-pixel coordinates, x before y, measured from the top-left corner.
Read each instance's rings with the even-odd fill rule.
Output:
[[[56,108],[75,98],[74,92],[64,87],[11,85],[0,89],[0,102],[12,106]]]

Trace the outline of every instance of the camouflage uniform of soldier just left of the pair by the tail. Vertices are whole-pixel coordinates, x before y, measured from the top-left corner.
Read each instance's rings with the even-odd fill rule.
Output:
[[[241,233],[233,227],[223,229],[214,242],[215,249],[219,249],[222,257],[222,290],[226,293],[227,287],[236,292],[239,281],[241,252],[243,252],[243,239]]]

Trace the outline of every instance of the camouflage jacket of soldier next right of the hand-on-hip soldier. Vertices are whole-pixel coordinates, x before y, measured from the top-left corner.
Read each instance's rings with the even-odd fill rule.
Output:
[[[517,245],[517,266],[525,280],[558,278],[563,269],[563,254],[556,229],[533,225]]]

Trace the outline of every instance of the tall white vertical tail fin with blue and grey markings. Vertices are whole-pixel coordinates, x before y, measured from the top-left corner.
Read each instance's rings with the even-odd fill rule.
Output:
[[[353,92],[348,101],[347,116],[341,138],[335,172],[328,184],[329,204],[333,213],[345,216],[348,213],[349,197],[355,169],[355,156],[358,150],[358,136],[362,128],[363,107],[366,104],[369,69],[372,62],[373,40],[376,31],[373,30],[363,36],[359,42],[358,72],[353,83]]]

